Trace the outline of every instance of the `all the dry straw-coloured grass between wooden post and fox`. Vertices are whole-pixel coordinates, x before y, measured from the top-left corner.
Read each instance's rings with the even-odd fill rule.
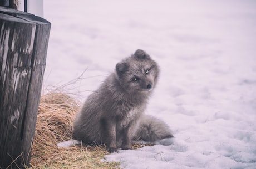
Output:
[[[108,154],[104,145],[57,147],[58,142],[71,140],[73,119],[79,108],[76,99],[61,91],[41,97],[31,168],[116,168],[119,165],[100,161]]]

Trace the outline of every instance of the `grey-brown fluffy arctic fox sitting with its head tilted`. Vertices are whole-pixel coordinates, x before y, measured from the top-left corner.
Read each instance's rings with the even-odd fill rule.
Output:
[[[88,96],[73,124],[73,139],[106,144],[106,150],[130,149],[132,140],[173,137],[169,126],[144,115],[159,77],[159,66],[143,50],[116,64],[116,69]]]

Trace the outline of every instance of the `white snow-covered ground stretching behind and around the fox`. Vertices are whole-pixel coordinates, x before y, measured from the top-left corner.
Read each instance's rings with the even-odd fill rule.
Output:
[[[122,58],[161,67],[147,114],[175,139],[105,156],[122,168],[256,168],[256,1],[51,1],[45,86],[84,100]]]

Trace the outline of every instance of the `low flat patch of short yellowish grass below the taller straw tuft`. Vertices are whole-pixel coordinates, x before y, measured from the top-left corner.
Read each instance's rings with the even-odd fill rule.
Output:
[[[58,148],[49,155],[31,159],[31,168],[116,168],[119,163],[101,162],[108,153],[104,147],[72,146]]]

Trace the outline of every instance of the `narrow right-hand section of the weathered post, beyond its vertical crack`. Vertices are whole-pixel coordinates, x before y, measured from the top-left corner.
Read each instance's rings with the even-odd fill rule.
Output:
[[[23,144],[27,144],[27,146],[30,146],[32,148],[33,139],[31,138],[33,138],[35,134],[37,111],[40,103],[43,75],[46,66],[46,55],[48,48],[48,45],[46,44],[48,44],[51,24],[45,21],[45,19],[37,16],[26,16],[26,18],[24,19],[26,19],[26,21],[33,21],[33,23],[36,23],[37,25],[35,43],[32,54],[33,62],[31,63],[32,74],[29,85],[29,93],[27,97],[27,112],[36,113],[31,113],[27,115],[23,123]],[[23,151],[29,155],[27,158],[27,160],[29,161],[31,157],[31,151],[28,149]]]

